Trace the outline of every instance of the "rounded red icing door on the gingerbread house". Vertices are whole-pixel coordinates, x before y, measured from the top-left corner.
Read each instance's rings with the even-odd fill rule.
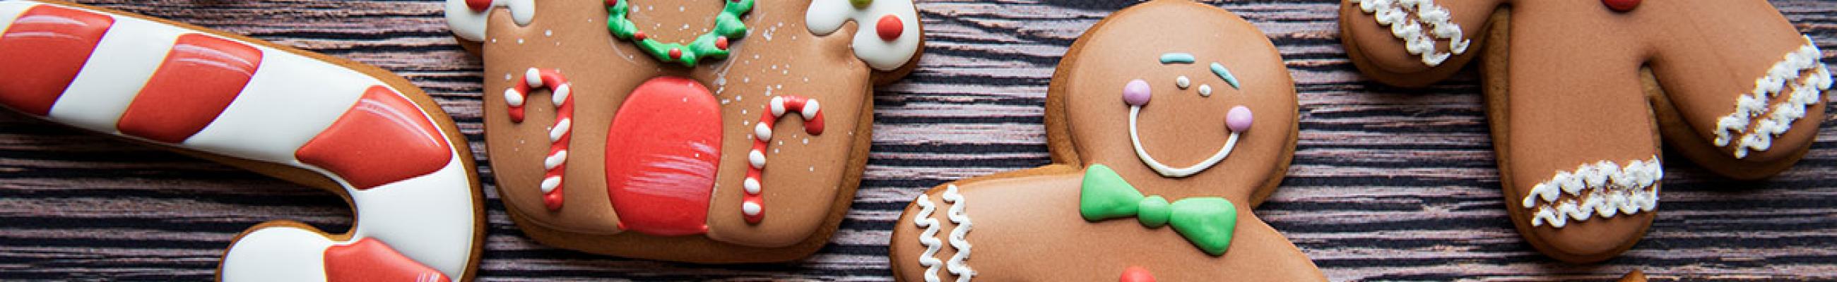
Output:
[[[720,121],[720,103],[696,81],[656,77],[632,90],[606,134],[606,194],[625,229],[707,233]]]

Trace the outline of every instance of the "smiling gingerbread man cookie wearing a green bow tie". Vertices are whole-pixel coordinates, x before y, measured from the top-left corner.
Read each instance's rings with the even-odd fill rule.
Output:
[[[1229,11],[1187,0],[1117,11],[1053,73],[1053,165],[920,194],[895,222],[893,275],[1324,280],[1251,212],[1288,172],[1295,99],[1275,46]]]

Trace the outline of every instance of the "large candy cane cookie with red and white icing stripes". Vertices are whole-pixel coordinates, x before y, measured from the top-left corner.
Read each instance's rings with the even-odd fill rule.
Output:
[[[255,225],[219,280],[470,280],[485,238],[465,137],[402,77],[62,2],[0,2],[0,106],[344,196],[351,233]]]

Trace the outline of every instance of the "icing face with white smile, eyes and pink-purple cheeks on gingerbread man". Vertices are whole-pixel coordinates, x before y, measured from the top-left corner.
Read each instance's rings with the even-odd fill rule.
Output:
[[[1192,55],[1187,53],[1161,55],[1161,64],[1192,64],[1192,62],[1194,62]],[[1231,75],[1231,71],[1225,70],[1223,64],[1212,62],[1211,70],[1214,75],[1231,84],[1231,88],[1238,88],[1236,77]],[[1187,77],[1178,77],[1176,82],[1181,90],[1185,90],[1190,84]],[[1225,157],[1231,156],[1231,148],[1238,145],[1238,136],[1251,128],[1251,110],[1244,106],[1233,106],[1231,112],[1225,114],[1225,128],[1231,130],[1231,137],[1225,139],[1225,146],[1220,146],[1218,152],[1214,152],[1211,157],[1205,157],[1205,161],[1200,161],[1192,167],[1170,167],[1166,163],[1161,163],[1159,159],[1150,156],[1146,148],[1143,148],[1143,139],[1137,130],[1139,128],[1137,119],[1141,117],[1143,106],[1148,104],[1148,99],[1152,95],[1154,95],[1152,88],[1148,86],[1146,81],[1141,79],[1130,81],[1128,84],[1122,86],[1122,103],[1130,104],[1130,143],[1135,145],[1135,156],[1141,157],[1143,163],[1148,165],[1148,168],[1154,168],[1154,172],[1165,178],[1187,178],[1192,174],[1200,174],[1207,168],[1212,168],[1214,165],[1218,165],[1218,161],[1225,161]],[[1211,86],[1201,84],[1200,95],[1211,97]]]

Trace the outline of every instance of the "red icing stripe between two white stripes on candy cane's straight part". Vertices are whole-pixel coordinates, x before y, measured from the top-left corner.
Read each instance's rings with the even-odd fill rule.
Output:
[[[261,49],[208,35],[180,35],[116,128],[180,143],[217,121],[261,66]]]

